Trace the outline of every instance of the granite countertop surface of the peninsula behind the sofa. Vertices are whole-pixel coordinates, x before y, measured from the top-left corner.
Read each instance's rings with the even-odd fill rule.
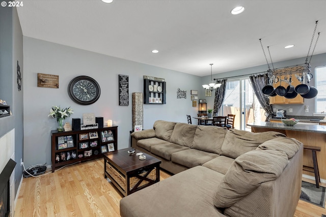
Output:
[[[253,122],[247,123],[248,126],[257,127],[257,128],[270,128],[270,129],[279,129],[279,130],[292,130],[292,131],[304,131],[304,132],[314,132],[314,133],[323,133],[326,134],[326,126],[324,125],[294,125],[286,126],[284,123],[278,122]]]

